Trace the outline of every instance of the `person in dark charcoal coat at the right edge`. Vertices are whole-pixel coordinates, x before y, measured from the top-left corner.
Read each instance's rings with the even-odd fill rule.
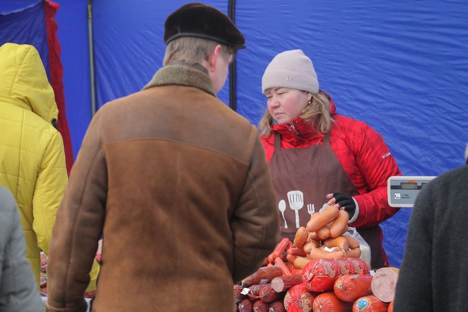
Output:
[[[394,312],[467,311],[467,164],[424,186],[408,225]]]

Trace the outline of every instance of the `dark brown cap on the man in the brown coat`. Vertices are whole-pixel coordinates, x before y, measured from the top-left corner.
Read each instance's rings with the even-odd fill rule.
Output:
[[[170,14],[164,23],[164,42],[180,37],[198,37],[217,41],[235,49],[245,48],[245,38],[232,20],[208,4],[192,2]]]

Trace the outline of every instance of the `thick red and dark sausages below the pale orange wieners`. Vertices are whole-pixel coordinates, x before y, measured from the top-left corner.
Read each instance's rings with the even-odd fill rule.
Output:
[[[302,274],[260,268],[234,286],[239,312],[392,312],[396,268],[370,274],[358,258],[314,259]],[[251,284],[254,283],[254,284]]]

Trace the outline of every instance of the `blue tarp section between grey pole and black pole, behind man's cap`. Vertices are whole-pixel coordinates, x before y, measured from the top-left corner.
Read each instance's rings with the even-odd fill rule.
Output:
[[[228,1],[206,3],[228,13]],[[165,50],[162,39],[164,21],[167,15],[182,4],[184,2],[181,1],[158,4],[151,1],[94,2],[93,29],[99,107],[108,101],[141,90],[162,66]],[[121,40],[122,38],[126,39]],[[134,40],[136,38],[141,40]],[[227,81],[226,86],[228,84]],[[229,103],[228,88],[225,87],[219,97],[223,102]]]

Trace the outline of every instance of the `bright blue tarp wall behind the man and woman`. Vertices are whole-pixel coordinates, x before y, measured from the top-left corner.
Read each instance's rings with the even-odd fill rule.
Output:
[[[76,157],[91,119],[88,1],[56,2],[62,7],[56,19]],[[164,55],[164,20],[186,2],[93,2],[98,107],[151,79]],[[235,23],[247,46],[237,55],[236,107],[251,123],[257,124],[266,108],[260,85],[269,61],[284,50],[302,49],[337,112],[377,130],[403,175],[437,176],[465,163],[467,1],[235,2]],[[206,3],[228,13],[227,0]],[[228,82],[219,98],[229,103]],[[384,247],[395,267],[403,256],[410,213],[411,208],[402,208],[382,224]]]

